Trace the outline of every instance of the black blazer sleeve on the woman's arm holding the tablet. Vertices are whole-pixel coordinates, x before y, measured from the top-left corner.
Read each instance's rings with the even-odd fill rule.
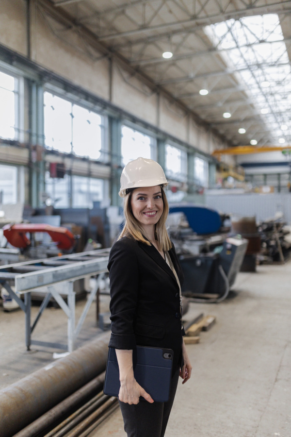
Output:
[[[138,299],[138,261],[134,241],[124,237],[109,255],[111,338],[109,347],[134,349],[133,320]]]

